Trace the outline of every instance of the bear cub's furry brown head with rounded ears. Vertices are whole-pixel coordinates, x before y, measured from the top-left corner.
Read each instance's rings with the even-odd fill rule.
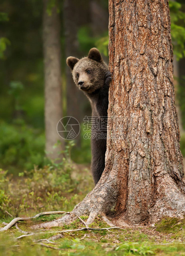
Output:
[[[92,48],[88,56],[82,59],[68,57],[66,62],[72,71],[73,80],[80,90],[93,93],[103,86],[108,66],[103,61],[98,49]]]

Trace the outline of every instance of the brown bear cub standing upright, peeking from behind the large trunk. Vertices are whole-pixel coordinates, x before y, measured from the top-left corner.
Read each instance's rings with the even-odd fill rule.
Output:
[[[91,103],[91,171],[94,183],[97,184],[105,168],[108,90],[111,73],[96,48],[89,51],[88,57],[82,59],[68,57],[66,62],[72,71],[75,84]],[[93,122],[96,122],[96,125]]]

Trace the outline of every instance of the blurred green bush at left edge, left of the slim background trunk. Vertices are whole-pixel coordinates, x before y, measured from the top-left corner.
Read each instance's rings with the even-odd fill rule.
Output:
[[[30,128],[18,119],[10,125],[0,121],[0,164],[11,172],[43,166],[45,137],[40,130]]]

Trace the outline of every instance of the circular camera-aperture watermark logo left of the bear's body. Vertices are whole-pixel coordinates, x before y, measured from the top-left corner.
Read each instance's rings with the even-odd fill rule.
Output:
[[[80,133],[80,123],[73,116],[65,116],[57,123],[56,130],[63,139],[73,140]]]

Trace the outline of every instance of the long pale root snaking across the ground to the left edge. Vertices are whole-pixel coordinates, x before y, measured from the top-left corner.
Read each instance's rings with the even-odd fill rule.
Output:
[[[15,225],[15,223],[17,223],[18,221],[25,221],[25,220],[30,220],[30,219],[34,219],[40,216],[44,216],[44,215],[51,215],[51,214],[63,214],[66,213],[66,211],[47,211],[47,212],[42,212],[42,213],[38,213],[33,217],[26,217],[26,218],[14,218],[12,221],[10,221],[9,224],[7,224],[4,228],[0,229],[1,231],[5,231],[8,230],[9,228],[11,228],[13,225]],[[4,224],[5,225],[5,224]]]

